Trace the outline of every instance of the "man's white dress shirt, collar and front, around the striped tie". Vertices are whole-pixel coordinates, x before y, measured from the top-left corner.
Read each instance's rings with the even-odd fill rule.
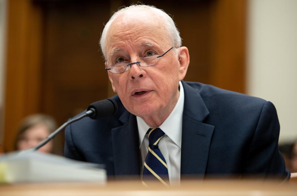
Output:
[[[170,185],[180,184],[180,156],[184,104],[184,92],[181,82],[179,82],[179,87],[179,99],[174,109],[168,118],[159,126],[165,133],[164,137],[162,137],[159,142],[159,149],[166,160]],[[149,150],[149,137],[146,133],[151,127],[149,127],[142,118],[136,116],[136,119],[139,133],[139,148],[141,154],[140,168],[142,175],[144,161]]]

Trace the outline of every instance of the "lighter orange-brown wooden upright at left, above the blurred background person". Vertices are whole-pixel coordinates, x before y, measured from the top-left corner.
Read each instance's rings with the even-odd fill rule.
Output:
[[[4,149],[13,149],[18,122],[41,105],[41,10],[8,1]]]

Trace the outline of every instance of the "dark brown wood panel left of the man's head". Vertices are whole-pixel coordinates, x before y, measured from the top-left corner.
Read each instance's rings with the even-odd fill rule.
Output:
[[[62,124],[88,104],[107,98],[108,78],[98,41],[109,19],[110,5],[84,1],[47,2],[42,6],[45,47],[41,110]],[[58,152],[64,134],[57,135],[56,140]]]

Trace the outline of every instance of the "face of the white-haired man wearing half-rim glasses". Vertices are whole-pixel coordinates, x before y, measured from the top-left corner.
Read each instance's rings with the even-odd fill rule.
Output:
[[[162,55],[169,50],[172,41],[160,20],[152,12],[118,16],[107,32],[107,63],[121,59],[137,62],[148,54]],[[178,82],[185,73],[180,69],[179,53],[171,49],[151,67],[132,64],[124,73],[108,71],[108,75],[124,107],[143,118],[170,114],[179,97]]]

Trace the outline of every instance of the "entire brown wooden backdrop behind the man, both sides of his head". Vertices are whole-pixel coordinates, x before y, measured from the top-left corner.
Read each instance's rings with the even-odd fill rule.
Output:
[[[245,92],[245,0],[142,1],[171,14],[190,51],[185,80]],[[113,92],[98,41],[113,11],[137,1],[10,0],[5,92],[5,151],[31,113],[58,125]],[[64,136],[55,138],[62,154]]]

